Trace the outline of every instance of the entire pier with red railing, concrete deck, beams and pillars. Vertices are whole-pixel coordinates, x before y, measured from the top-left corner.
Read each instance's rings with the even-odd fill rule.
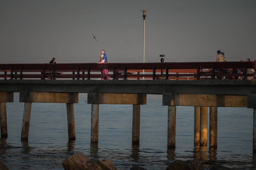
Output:
[[[201,70],[209,68],[243,68],[245,74],[213,72],[209,76]],[[218,107],[247,107],[253,108],[253,153],[256,153],[256,81],[247,80],[254,75],[246,71],[254,68],[254,62],[0,64],[0,71],[4,72],[0,74],[1,137],[7,137],[6,102],[13,102],[13,93],[19,92],[19,102],[24,103],[21,140],[29,140],[34,102],[66,103],[68,136],[69,140],[75,140],[74,103],[79,102],[79,93],[88,93],[91,143],[99,141],[101,104],[132,104],[131,143],[139,145],[140,105],[146,104],[147,94],[158,94],[162,95],[163,105],[168,106],[168,120],[163,122],[168,125],[168,148],[175,148],[176,143],[176,106],[195,107],[194,146],[207,146],[210,107],[209,148],[217,148]],[[112,74],[97,74],[101,69],[109,69]],[[145,74],[140,74],[143,69]],[[98,80],[105,76],[113,80]],[[210,80],[206,80],[208,76]],[[245,80],[215,79],[222,76],[244,77]],[[145,80],[140,80],[142,77]]]

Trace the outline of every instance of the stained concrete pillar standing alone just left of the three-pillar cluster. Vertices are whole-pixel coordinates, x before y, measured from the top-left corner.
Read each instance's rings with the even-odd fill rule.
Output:
[[[176,106],[168,106],[167,147],[175,148]]]

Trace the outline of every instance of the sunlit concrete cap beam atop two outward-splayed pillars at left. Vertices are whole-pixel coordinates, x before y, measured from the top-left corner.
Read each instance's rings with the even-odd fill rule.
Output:
[[[20,92],[19,102],[78,103],[78,93]]]

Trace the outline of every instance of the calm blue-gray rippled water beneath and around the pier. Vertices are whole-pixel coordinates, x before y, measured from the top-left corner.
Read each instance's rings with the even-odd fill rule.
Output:
[[[131,145],[132,105],[100,105],[99,143],[90,145],[91,105],[86,100],[79,97],[74,105],[76,141],[68,141],[66,104],[33,103],[29,141],[21,142],[24,104],[15,96],[14,103],[6,104],[8,138],[0,141],[0,160],[9,169],[63,169],[62,161],[80,152],[110,159],[117,169],[135,164],[166,169],[176,159],[199,160],[205,169],[217,163],[256,169],[253,109],[218,108],[218,149],[209,151],[193,146],[194,107],[177,107],[176,149],[167,150],[167,106],[162,106],[162,99],[147,99],[141,106],[140,146]]]

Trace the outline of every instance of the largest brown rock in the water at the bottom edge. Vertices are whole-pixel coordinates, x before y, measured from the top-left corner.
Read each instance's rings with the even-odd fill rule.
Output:
[[[116,170],[111,160],[90,160],[88,156],[78,153],[63,161],[65,170]]]

